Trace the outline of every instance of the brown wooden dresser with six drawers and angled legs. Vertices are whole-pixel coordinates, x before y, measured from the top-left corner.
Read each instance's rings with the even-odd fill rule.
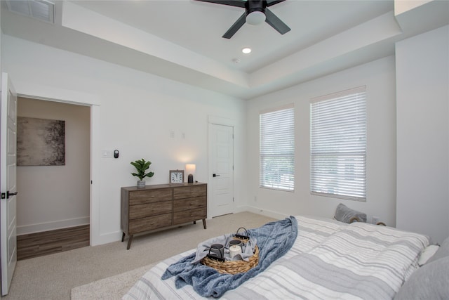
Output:
[[[149,230],[203,220],[206,229],[207,184],[177,183],[121,188],[121,230],[129,236]]]

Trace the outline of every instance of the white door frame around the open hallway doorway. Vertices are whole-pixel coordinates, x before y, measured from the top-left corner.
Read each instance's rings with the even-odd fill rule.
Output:
[[[18,97],[91,107],[90,244],[109,242],[100,235],[100,98],[91,93],[23,82],[15,83],[15,91]]]

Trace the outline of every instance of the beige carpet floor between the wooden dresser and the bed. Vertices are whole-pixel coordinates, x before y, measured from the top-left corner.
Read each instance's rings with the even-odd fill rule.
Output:
[[[241,226],[256,228],[273,220],[250,212],[229,214],[208,220],[206,230],[202,222],[196,222],[135,236],[129,250],[126,250],[126,242],[119,241],[18,261],[10,292],[2,300],[69,300],[72,289],[80,286],[85,286],[85,291],[84,288],[76,288],[74,296],[81,294],[82,299],[88,299],[88,294],[93,293],[89,292],[89,288],[90,291],[100,289],[100,285],[105,286],[104,291],[113,288],[116,289],[113,294],[121,293],[126,287],[114,285],[114,280],[133,280],[131,278],[134,276],[139,278],[145,273],[142,266],[193,249],[210,237],[233,233]],[[142,273],[138,275],[139,272]],[[123,275],[125,279],[121,278],[122,273],[126,273]],[[107,279],[102,280],[104,278]],[[104,291],[99,290],[100,294],[97,295],[106,293]]]

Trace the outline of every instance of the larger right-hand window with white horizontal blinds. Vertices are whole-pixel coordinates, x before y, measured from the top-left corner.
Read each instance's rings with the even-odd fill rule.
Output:
[[[366,87],[311,100],[310,190],[366,201]]]

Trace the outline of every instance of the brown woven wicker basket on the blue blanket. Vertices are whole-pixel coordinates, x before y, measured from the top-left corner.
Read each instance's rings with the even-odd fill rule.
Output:
[[[254,255],[249,258],[249,261],[216,261],[206,256],[201,259],[201,263],[205,266],[209,266],[210,268],[215,268],[215,270],[222,274],[234,275],[243,273],[251,268],[254,268],[257,266],[257,263],[259,263],[259,247],[257,247],[257,245],[255,246]]]

